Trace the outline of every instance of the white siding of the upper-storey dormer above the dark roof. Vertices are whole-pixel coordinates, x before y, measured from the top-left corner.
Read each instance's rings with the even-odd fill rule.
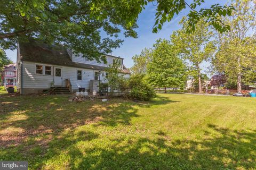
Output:
[[[111,57],[111,56],[107,56],[106,55],[106,59],[107,59],[107,64],[104,64],[103,62],[98,63],[96,60],[92,60],[92,61],[86,61],[84,57],[82,57],[82,54],[79,54],[78,56],[75,56],[73,54],[73,62],[77,62],[77,63],[84,63],[84,64],[91,64],[91,65],[98,65],[98,66],[105,66],[107,67],[108,64],[112,64],[113,60],[118,59],[117,57]],[[122,64],[122,58],[119,58],[119,60],[121,60],[121,64]]]

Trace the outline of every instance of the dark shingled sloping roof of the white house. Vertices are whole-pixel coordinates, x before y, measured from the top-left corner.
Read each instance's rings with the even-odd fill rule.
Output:
[[[21,61],[77,67],[82,69],[105,70],[107,67],[73,62],[64,46],[47,45],[38,41],[19,43]],[[119,58],[119,57],[118,57]],[[122,70],[130,74],[129,70]]]

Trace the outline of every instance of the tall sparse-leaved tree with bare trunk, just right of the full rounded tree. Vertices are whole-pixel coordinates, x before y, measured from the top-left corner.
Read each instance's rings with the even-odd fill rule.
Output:
[[[209,24],[204,20],[195,25],[194,32],[187,32],[186,27],[189,22],[186,19],[181,21],[182,29],[173,32],[171,36],[172,44],[176,47],[179,54],[189,62],[190,74],[196,73],[198,80],[199,93],[202,93],[201,64],[209,60],[215,52],[215,46],[211,38],[213,32]]]

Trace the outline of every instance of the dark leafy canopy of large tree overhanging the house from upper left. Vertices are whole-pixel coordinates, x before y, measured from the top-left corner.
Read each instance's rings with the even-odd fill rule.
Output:
[[[231,14],[233,7],[214,4],[210,8],[199,8],[204,0],[188,4],[184,0],[2,0],[0,3],[0,46],[4,49],[16,48],[19,42],[29,37],[38,38],[45,43],[61,43],[81,52],[90,59],[98,60],[102,53],[110,53],[111,48],[119,47],[122,40],[117,39],[121,28],[125,36],[137,37],[139,13],[147,3],[156,7],[156,22],[153,32],[162,28],[166,21],[172,20],[184,8],[189,7],[188,30],[200,18],[206,18],[220,32],[229,26],[220,22],[219,16]],[[106,33],[101,38],[100,31]],[[103,58],[104,59],[104,58]]]

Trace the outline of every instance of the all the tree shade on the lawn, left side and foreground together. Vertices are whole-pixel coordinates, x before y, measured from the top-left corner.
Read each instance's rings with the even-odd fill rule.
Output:
[[[111,99],[69,103],[66,96],[0,99],[0,160],[28,160],[30,169],[254,169],[256,131],[209,124],[203,137],[172,140],[164,131],[152,137],[104,128],[131,126],[140,107],[165,105],[158,97],[134,103]],[[91,129],[87,124],[93,124]],[[95,126],[94,126],[95,125]],[[101,128],[101,132],[97,132]],[[78,129],[78,130],[77,130]],[[13,132],[11,132],[13,131]]]

